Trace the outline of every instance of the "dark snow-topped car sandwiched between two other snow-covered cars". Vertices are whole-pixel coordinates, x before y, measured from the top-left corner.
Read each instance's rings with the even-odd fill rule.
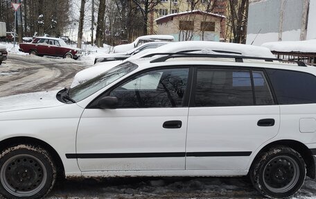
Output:
[[[148,42],[145,44],[142,44],[141,46],[138,46],[135,49],[132,49],[130,51],[127,51],[126,53],[109,53],[103,56],[98,56],[94,59],[94,64],[98,62],[109,62],[109,61],[115,61],[115,60],[125,60],[127,58],[130,58],[132,55],[136,55],[137,53],[141,51],[145,51],[147,49],[156,49],[160,46],[164,46],[165,44],[168,44],[170,42]]]

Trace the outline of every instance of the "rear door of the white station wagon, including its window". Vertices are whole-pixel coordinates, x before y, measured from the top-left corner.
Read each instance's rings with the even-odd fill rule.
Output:
[[[277,135],[264,71],[198,67],[188,116],[186,169],[245,171],[256,148]]]

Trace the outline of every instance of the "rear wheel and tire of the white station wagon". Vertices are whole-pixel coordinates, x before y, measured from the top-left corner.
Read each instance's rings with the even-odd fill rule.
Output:
[[[306,164],[297,151],[286,146],[262,153],[252,169],[254,187],[268,198],[289,198],[304,184]]]

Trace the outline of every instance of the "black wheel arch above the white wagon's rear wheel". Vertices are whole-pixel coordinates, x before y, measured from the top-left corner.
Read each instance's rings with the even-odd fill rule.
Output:
[[[256,159],[258,159],[263,152],[267,152],[268,150],[270,150],[270,148],[274,146],[288,146],[289,148],[296,150],[304,159],[304,162],[306,164],[306,175],[313,179],[316,178],[316,167],[312,152],[305,144],[292,139],[273,141],[270,144],[267,144],[266,146],[261,148],[261,150],[256,154],[256,157],[254,157],[254,160],[252,161],[250,168],[254,166],[254,162],[256,162]],[[251,171],[251,169],[249,169],[249,171]]]

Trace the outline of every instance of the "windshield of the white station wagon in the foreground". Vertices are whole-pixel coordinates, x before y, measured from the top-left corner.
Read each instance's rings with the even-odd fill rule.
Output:
[[[81,85],[73,87],[69,91],[69,96],[76,102],[82,101],[88,96],[91,96],[91,94],[94,94],[100,89],[103,89],[104,87],[109,85],[110,83],[113,83],[115,80],[118,80],[119,78],[134,71],[134,69],[137,69],[137,65],[132,64],[131,62],[120,64],[119,66],[109,69],[105,73],[100,74],[100,76],[97,76],[96,78],[93,78],[85,83],[82,83]]]

